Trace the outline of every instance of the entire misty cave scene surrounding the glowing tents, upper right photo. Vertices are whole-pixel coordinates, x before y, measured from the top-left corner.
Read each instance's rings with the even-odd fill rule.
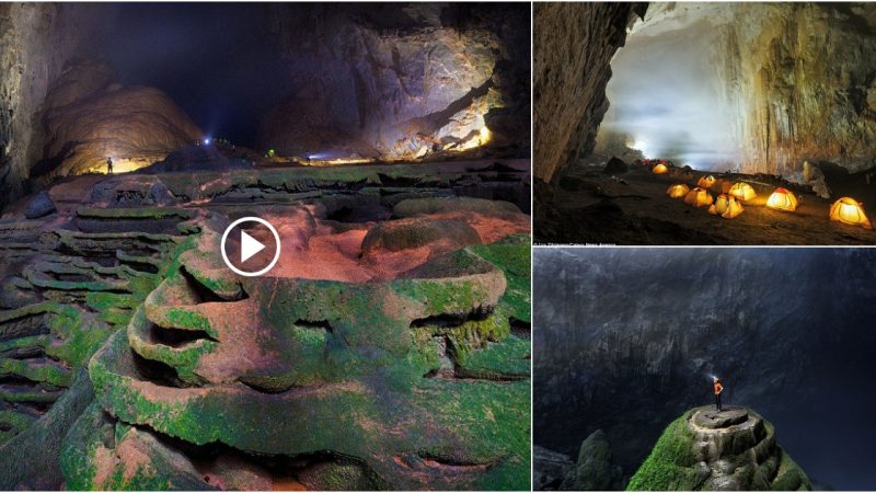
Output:
[[[537,28],[537,241],[873,243],[866,226],[830,220],[846,197],[863,215],[876,210],[873,5],[562,9],[537,8],[537,25],[550,33],[561,15],[587,24],[574,39]],[[563,43],[570,64],[552,55]],[[668,172],[652,172],[655,162]],[[717,179],[710,205],[728,193],[724,182],[745,182],[757,197],[740,199],[744,214],[730,221],[666,197],[669,185],[693,188],[703,176]],[[797,210],[770,207],[779,187],[800,198]]]

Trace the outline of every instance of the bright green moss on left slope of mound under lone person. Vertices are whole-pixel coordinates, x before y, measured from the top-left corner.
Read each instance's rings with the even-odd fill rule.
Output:
[[[687,412],[666,427],[648,458],[627,484],[627,491],[691,491],[696,486],[693,469],[693,433]]]

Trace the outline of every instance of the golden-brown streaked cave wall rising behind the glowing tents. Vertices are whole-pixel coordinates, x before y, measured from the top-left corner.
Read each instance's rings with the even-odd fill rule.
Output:
[[[789,175],[803,161],[876,164],[876,5],[746,4],[726,30],[739,54],[744,169]]]

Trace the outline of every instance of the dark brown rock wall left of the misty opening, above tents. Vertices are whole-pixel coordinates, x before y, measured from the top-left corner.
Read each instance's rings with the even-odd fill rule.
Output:
[[[592,151],[610,62],[647,3],[534,4],[533,173],[544,182]]]

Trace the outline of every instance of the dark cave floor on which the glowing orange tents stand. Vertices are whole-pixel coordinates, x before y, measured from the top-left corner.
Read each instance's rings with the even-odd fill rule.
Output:
[[[829,219],[833,199],[823,199],[803,187],[774,176],[704,173],[694,170],[676,176],[654,174],[631,164],[625,173],[602,172],[604,163],[580,165],[563,176],[557,186],[535,192],[534,241],[537,243],[586,244],[727,244],[727,245],[861,245],[876,244],[876,231]],[[733,219],[708,214],[670,198],[673,183],[696,186],[714,174],[719,180],[745,181],[758,196],[745,203],[745,211]],[[794,213],[765,206],[777,187],[792,188],[799,204]],[[710,191],[713,197],[716,193]],[[550,198],[548,198],[550,197]],[[860,199],[860,197],[858,197]],[[872,219],[872,218],[871,218]]]

